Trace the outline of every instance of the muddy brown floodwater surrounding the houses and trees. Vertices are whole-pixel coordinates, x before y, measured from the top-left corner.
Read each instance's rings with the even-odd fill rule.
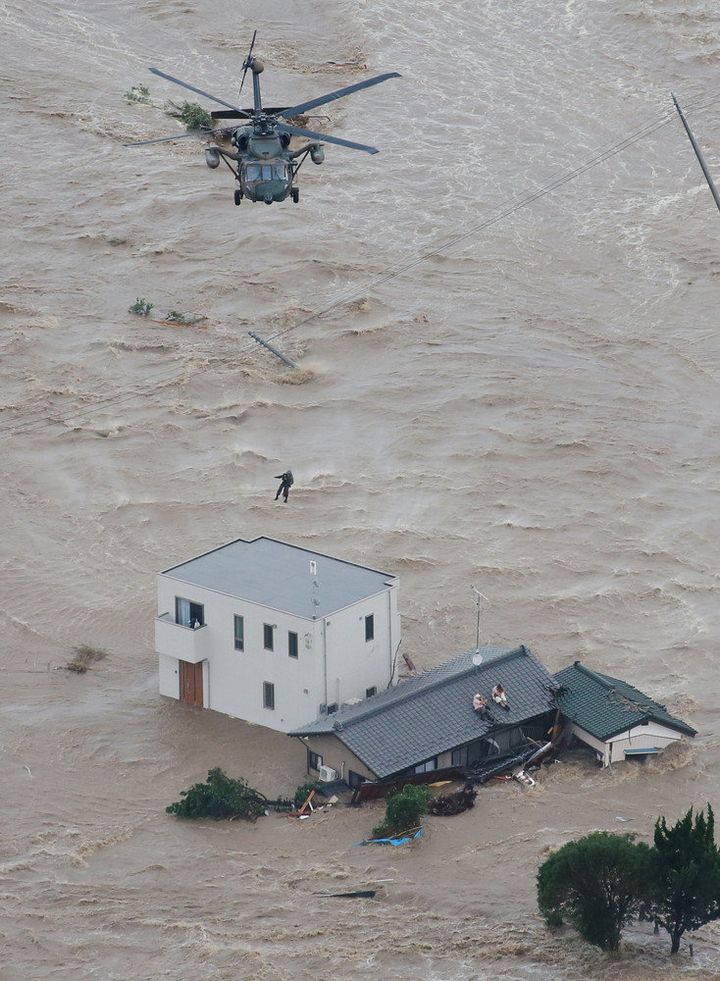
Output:
[[[720,172],[716,5],[0,14],[3,979],[719,977],[717,925],[670,966],[665,937],[609,958],[534,902],[549,849],[717,801],[720,226],[668,95]],[[403,75],[330,108],[382,152],[329,147],[298,206],[235,208],[189,141],[122,147],[178,126],[148,65],[232,100],[255,27],[276,104]],[[139,83],[151,105],[124,100]],[[136,297],[208,319],[132,317]],[[376,808],[171,819],[211,766],[270,794],[304,777],[287,737],[157,694],[154,574],[254,535],[396,573],[422,668],[474,643],[474,584],[484,640],[580,657],[699,736],[486,788],[412,851],[353,847]],[[110,656],[76,676],[81,643]],[[336,886],[378,897],[314,895]]]

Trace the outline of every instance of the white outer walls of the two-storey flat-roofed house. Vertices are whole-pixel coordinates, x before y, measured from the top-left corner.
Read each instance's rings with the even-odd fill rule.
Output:
[[[376,597],[334,614],[327,621],[305,619],[268,607],[158,577],[158,615],[175,614],[175,597],[181,596],[205,608],[204,702],[207,708],[280,732],[290,732],[317,718],[322,704],[364,698],[367,688],[378,691],[390,680],[390,640],[400,640],[397,591]],[[390,599],[388,599],[390,597]],[[375,616],[375,639],[365,642],[365,615]],[[244,617],[243,651],[234,647],[234,615]],[[275,626],[275,649],[263,646],[263,625]],[[392,628],[390,624],[392,623]],[[298,635],[298,658],[288,656],[288,631]],[[170,631],[166,636],[172,636]],[[171,641],[168,641],[170,643]],[[173,651],[160,650],[160,692],[179,697],[178,669]],[[326,693],[327,670],[327,693]],[[275,686],[275,709],[263,706],[263,682]]]

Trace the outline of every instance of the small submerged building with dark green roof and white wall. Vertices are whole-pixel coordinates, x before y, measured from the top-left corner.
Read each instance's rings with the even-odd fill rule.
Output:
[[[580,661],[554,678],[557,705],[570,732],[595,750],[603,766],[660,753],[670,743],[696,735],[664,705]]]

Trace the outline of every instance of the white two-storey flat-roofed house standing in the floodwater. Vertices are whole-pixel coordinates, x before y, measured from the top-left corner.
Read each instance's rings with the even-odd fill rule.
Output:
[[[160,694],[280,732],[395,683],[398,581],[272,538],[158,576]]]

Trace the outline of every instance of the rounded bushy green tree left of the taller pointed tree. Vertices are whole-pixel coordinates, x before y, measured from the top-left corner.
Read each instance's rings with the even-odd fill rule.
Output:
[[[538,906],[548,926],[569,920],[603,950],[617,950],[622,929],[645,908],[651,850],[630,835],[595,831],[563,845],[540,866]]]

